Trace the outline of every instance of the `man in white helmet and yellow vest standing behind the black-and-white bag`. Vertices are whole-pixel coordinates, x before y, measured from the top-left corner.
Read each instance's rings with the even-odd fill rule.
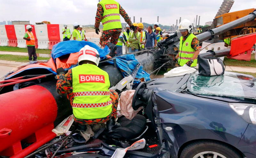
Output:
[[[192,25],[188,19],[184,19],[180,22],[178,31],[180,34],[180,49],[179,53],[173,59],[178,60],[180,66],[188,65],[194,67],[197,64],[197,55],[199,54],[199,40],[192,33]],[[179,58],[179,59],[178,59]]]

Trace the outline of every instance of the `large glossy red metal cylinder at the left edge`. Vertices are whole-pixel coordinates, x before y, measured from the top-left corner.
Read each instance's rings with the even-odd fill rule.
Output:
[[[36,143],[43,139],[54,128],[56,117],[57,103],[50,91],[42,86],[1,94],[0,153],[12,156],[22,150],[21,141]]]

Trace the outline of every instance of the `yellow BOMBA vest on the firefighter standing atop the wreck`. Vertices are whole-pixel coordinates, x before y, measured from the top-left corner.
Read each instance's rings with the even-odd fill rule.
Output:
[[[122,28],[119,14],[119,3],[114,0],[102,0],[99,4],[103,8],[103,15],[101,23],[103,31]]]

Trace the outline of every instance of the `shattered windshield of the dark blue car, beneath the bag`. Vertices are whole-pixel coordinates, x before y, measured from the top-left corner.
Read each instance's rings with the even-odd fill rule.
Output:
[[[251,75],[225,71],[220,76],[190,75],[187,90],[205,96],[225,96],[256,99],[256,79]]]

